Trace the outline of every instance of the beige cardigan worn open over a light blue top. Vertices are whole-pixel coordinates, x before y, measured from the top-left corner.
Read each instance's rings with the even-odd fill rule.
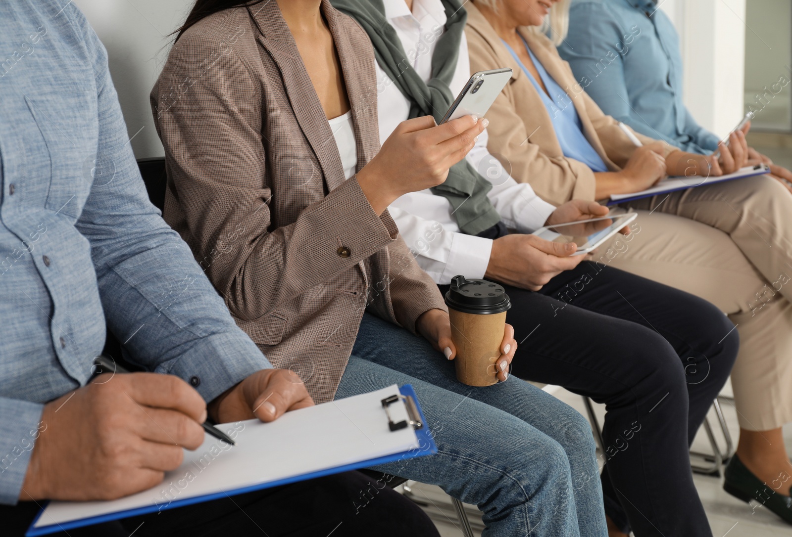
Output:
[[[495,29],[473,2],[467,10],[467,43],[470,71],[511,67],[512,79],[487,112],[489,152],[497,157],[518,183],[531,183],[536,194],[561,205],[570,199],[594,199],[594,172],[579,161],[564,157],[542,97],[504,46]],[[619,122],[605,115],[575,80],[569,64],[545,36],[520,28],[531,51],[558,85],[566,90],[581,116],[583,133],[611,171],[619,171],[635,151]],[[583,81],[586,82],[585,80]],[[642,134],[643,143],[655,142]],[[676,147],[666,145],[666,154]]]

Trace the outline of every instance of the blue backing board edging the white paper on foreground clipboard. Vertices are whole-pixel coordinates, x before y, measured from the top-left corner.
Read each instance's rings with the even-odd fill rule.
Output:
[[[122,518],[128,518],[130,516],[145,515],[149,512],[155,512],[158,509],[162,509],[164,511],[166,509],[184,507],[185,505],[192,505],[192,504],[204,503],[206,501],[219,500],[220,498],[226,496],[245,494],[248,492],[253,492],[254,490],[268,489],[272,486],[287,485],[289,483],[304,481],[306,479],[321,478],[324,475],[339,474],[344,471],[356,470],[358,468],[366,468],[371,466],[378,466],[379,464],[393,463],[397,460],[414,459],[416,457],[434,455],[437,452],[437,445],[435,444],[435,441],[432,439],[432,433],[430,433],[428,426],[426,425],[426,418],[424,417],[424,412],[423,410],[421,410],[421,405],[418,403],[418,398],[417,395],[415,395],[415,390],[413,390],[412,384],[405,384],[404,386],[399,388],[399,391],[402,393],[402,395],[412,396],[413,401],[415,402],[415,410],[417,410],[417,413],[421,418],[421,424],[423,424],[423,426],[420,429],[419,428],[415,429],[415,434],[418,438],[417,448],[410,449],[409,451],[406,452],[394,453],[393,455],[378,457],[376,459],[361,460],[360,462],[345,464],[344,466],[327,468],[326,470],[310,472],[302,475],[294,475],[290,478],[277,479],[276,481],[272,481],[272,482],[265,482],[265,483],[259,483],[258,485],[246,486],[241,489],[225,490],[215,494],[189,497],[189,498],[185,498],[184,500],[174,500],[169,502],[169,504],[165,506],[149,505],[147,507],[139,507],[137,509],[128,509],[125,511],[111,512],[106,515],[92,516],[80,520],[70,520],[69,522],[64,522],[63,524],[51,524],[49,526],[34,528],[33,526],[36,524],[36,522],[39,520],[40,516],[44,512],[44,508],[42,508],[40,509],[39,513],[36,515],[36,518],[30,524],[30,528],[28,528],[28,531],[25,533],[25,537],[36,537],[36,535],[48,535],[50,533],[55,533],[56,531],[82,528],[83,526],[101,524],[102,522],[110,522],[112,520],[120,520]],[[44,504],[44,507],[46,507],[46,504]]]

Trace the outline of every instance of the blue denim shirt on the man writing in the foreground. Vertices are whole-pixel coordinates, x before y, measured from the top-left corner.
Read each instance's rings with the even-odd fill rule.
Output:
[[[0,504],[20,494],[43,403],[89,379],[105,316],[135,361],[206,400],[271,367],[149,202],[73,2],[0,2],[0,187]]]

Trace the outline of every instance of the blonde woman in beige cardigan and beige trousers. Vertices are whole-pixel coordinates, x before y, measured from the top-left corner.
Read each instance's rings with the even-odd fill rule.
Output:
[[[591,79],[577,81],[552,41],[537,31],[553,6],[554,36],[564,36],[565,25],[558,21],[565,20],[568,2],[555,2],[474,0],[466,6],[471,70],[514,70],[487,114],[491,153],[511,166],[516,180],[531,183],[537,194],[556,204],[641,191],[655,173],[653,166],[662,169],[663,160],[669,174],[701,173],[701,161],[670,146],[662,148],[663,159],[658,142],[641,134],[635,135],[645,147],[637,149],[615,119],[600,111],[584,91]],[[528,55],[526,45],[565,90],[562,100],[574,107],[584,138],[606,172],[593,172],[563,153],[543,96],[528,74],[536,69],[533,60],[517,62],[509,51],[524,47],[522,55]],[[596,77],[594,66],[591,76]],[[657,153],[648,154],[646,146]],[[741,165],[744,146],[744,136],[733,134],[721,161],[710,157],[713,172]],[[687,161],[691,170],[686,172],[679,165]],[[752,491],[767,489],[763,483],[775,483],[767,491],[778,500],[782,516],[792,520],[790,481],[779,478],[792,476],[781,431],[792,421],[792,286],[787,285],[792,277],[792,195],[771,177],[756,176],[625,206],[638,210],[640,233],[620,248],[607,249],[600,261],[706,298],[737,324],[741,351],[732,382],[741,435],[725,488],[747,499],[759,494]]]

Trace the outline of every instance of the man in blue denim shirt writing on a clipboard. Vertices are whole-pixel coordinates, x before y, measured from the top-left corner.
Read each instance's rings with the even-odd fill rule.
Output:
[[[0,525],[20,535],[41,500],[157,485],[208,417],[269,422],[313,401],[236,326],[149,202],[105,48],[74,3],[0,2],[0,54]],[[89,382],[105,321],[147,372]],[[258,534],[262,519],[269,535],[326,535],[341,516],[347,531],[395,535],[386,519],[402,498],[357,515],[366,481],[350,475],[163,511],[123,535],[143,522],[139,535]],[[437,535],[417,507],[397,514]]]

